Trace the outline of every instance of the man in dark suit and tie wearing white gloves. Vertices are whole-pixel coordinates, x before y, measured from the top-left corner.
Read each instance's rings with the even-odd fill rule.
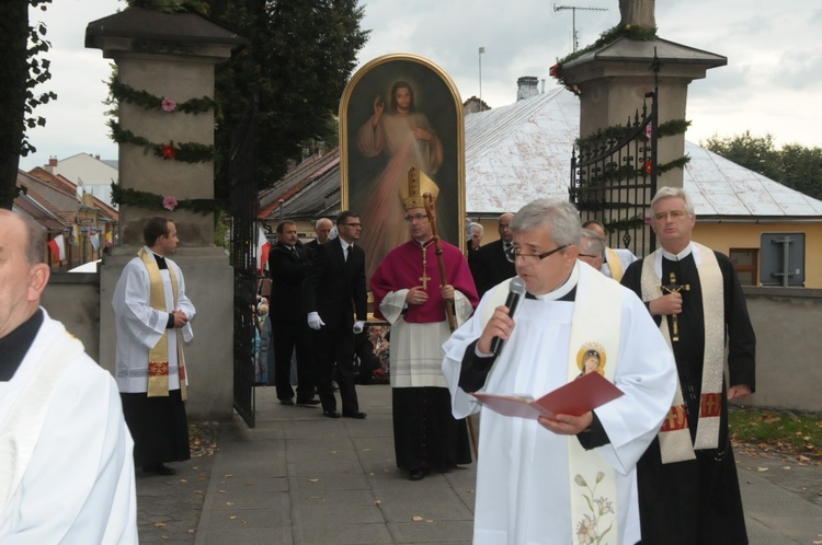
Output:
[[[336,218],[339,236],[317,246],[304,286],[308,326],[313,329],[312,346],[317,361],[317,390],[322,411],[340,418],[331,381],[336,362],[336,383],[342,399],[342,416],[365,418],[359,410],[354,385],[354,334],[367,320],[365,252],[354,242],[359,239],[359,217],[345,210]],[[356,322],[354,321],[356,311]]]

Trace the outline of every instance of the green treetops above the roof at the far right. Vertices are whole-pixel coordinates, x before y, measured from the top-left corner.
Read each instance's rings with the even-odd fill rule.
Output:
[[[705,148],[729,161],[822,200],[822,148],[791,143],[776,149],[774,137],[742,135],[712,136]]]

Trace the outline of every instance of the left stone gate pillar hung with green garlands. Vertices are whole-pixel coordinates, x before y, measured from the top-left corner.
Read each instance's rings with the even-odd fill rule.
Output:
[[[163,13],[128,8],[89,23],[85,47],[103,50],[116,63],[129,93],[145,92],[181,105],[214,96],[214,68],[246,40],[194,13]],[[144,95],[145,96],[145,95]],[[214,146],[214,109],[184,113],[121,100],[119,186],[163,197],[212,199],[214,162],[183,161],[183,154],[158,156],[151,146],[208,150]],[[125,132],[128,131],[128,132]],[[147,149],[147,142],[149,149]],[[167,149],[172,154],[170,149]],[[201,156],[202,153],[198,155]],[[226,253],[214,245],[214,213],[173,211],[140,204],[119,207],[119,242],[105,256],[100,277],[100,363],[114,371],[115,334],[112,295],[125,264],[142,246],[142,224],[168,216],[178,229],[174,260],[182,267],[186,294],[197,309],[194,340],[185,349],[190,375],[189,414],[197,419],[227,419],[232,407],[233,275]]]

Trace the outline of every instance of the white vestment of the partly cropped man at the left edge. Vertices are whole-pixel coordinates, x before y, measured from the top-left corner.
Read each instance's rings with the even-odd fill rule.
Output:
[[[43,313],[0,382],[0,543],[137,543],[134,443],[117,386]]]

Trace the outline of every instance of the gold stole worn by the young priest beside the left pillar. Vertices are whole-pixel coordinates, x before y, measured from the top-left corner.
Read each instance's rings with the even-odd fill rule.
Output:
[[[160,267],[157,265],[155,255],[151,252],[147,252],[146,248],[140,248],[137,255],[142,260],[142,264],[148,270],[148,278],[150,282],[150,294],[149,294],[149,306],[161,313],[168,314],[165,308],[165,288],[163,286],[162,275],[160,274]],[[178,300],[179,285],[176,274],[172,267],[168,268],[169,276],[171,277],[171,292],[173,301]],[[178,353],[178,369],[180,376],[180,394],[182,398],[187,397],[185,387],[185,362],[183,360],[183,348],[182,348],[182,336],[180,329],[173,329],[176,335],[176,353]],[[162,337],[157,341],[153,348],[148,352],[148,396],[149,397],[168,397],[169,395],[169,329],[164,329]]]

